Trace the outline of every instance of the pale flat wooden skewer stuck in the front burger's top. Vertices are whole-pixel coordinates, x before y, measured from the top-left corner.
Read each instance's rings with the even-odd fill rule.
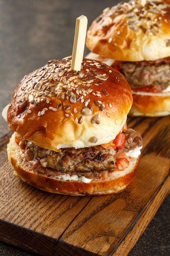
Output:
[[[75,23],[75,35],[73,43],[73,53],[71,60],[71,68],[75,71],[81,70],[84,45],[86,40],[87,31],[87,17],[82,15],[76,19]]]

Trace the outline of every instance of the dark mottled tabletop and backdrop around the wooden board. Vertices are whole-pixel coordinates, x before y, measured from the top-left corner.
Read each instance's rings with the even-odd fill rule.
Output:
[[[0,112],[9,103],[13,90],[25,74],[43,66],[50,59],[60,59],[72,54],[75,19],[78,16],[87,16],[89,26],[104,8],[117,2],[119,1],[0,0]],[[88,52],[85,47],[84,55]],[[0,115],[0,138],[8,132],[10,130],[7,123]],[[33,254],[2,241],[0,255]],[[170,195],[128,254],[135,255],[170,255]]]

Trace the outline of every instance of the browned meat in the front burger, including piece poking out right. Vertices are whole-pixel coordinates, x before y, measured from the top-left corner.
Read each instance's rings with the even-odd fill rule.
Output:
[[[142,145],[142,139],[138,132],[128,129],[125,132],[125,151]],[[21,138],[22,139],[22,138]],[[88,148],[62,148],[61,152],[55,152],[40,148],[37,145],[22,139],[26,145],[25,157],[31,162],[38,160],[44,168],[51,168],[62,173],[91,173],[113,170],[115,168],[116,150],[102,146]]]

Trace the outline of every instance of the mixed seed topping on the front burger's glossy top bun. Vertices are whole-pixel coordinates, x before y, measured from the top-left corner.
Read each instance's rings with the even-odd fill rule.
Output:
[[[46,103],[50,103],[51,97],[56,97],[61,100],[61,103],[58,103],[57,107],[49,106],[49,108],[38,108],[37,115],[38,117],[45,114],[45,111],[52,110],[57,111],[62,108],[62,102],[64,100],[69,100],[72,104],[76,103],[78,100],[83,104],[82,106],[82,115],[91,115],[93,112],[93,104],[92,106],[89,104],[90,98],[88,98],[88,94],[95,95],[96,97],[102,97],[102,94],[99,90],[96,92],[93,91],[91,85],[94,83],[99,86],[108,79],[108,75],[101,74],[98,69],[102,69],[106,64],[99,63],[95,60],[90,60],[84,62],[84,66],[86,68],[79,72],[74,72],[71,69],[71,58],[65,58],[65,64],[60,63],[58,61],[51,60],[44,67],[41,67],[38,70],[35,70],[29,76],[24,76],[22,82],[24,82],[24,86],[21,87],[20,92],[13,96],[14,98],[18,98],[18,106],[15,108],[15,111],[18,111],[19,106],[24,108],[26,106],[26,101],[30,104],[34,104],[35,106],[39,105],[40,102],[46,101]],[[104,92],[104,91],[103,91]],[[104,92],[106,95],[107,93]],[[89,95],[90,97],[90,95]],[[97,101],[96,101],[97,102]],[[100,106],[101,105],[101,106]],[[44,103],[43,105],[44,106]],[[101,109],[104,108],[104,104],[98,102],[98,106]],[[70,105],[63,106],[64,110],[71,109]],[[31,113],[31,110],[28,110],[27,113]],[[65,116],[73,116],[77,113],[77,109],[73,106],[72,113],[66,113]],[[75,119],[79,124],[82,123],[83,117],[79,117],[79,119]],[[97,121],[97,124],[99,121]]]

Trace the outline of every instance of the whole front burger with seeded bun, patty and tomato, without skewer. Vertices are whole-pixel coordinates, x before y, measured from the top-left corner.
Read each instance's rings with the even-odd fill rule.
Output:
[[[51,60],[24,76],[13,93],[7,145],[14,175],[66,195],[117,193],[139,164],[141,135],[126,126],[132,93],[112,67],[84,58]]]

